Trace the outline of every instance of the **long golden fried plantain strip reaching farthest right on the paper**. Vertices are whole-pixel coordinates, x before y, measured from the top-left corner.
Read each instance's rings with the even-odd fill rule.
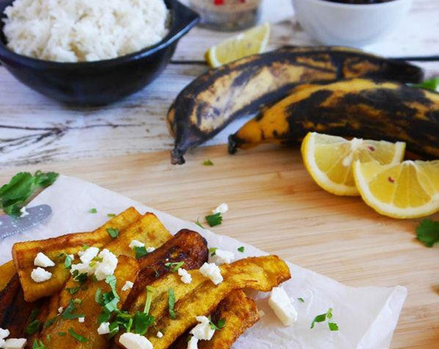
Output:
[[[201,275],[199,270],[191,270],[191,284],[184,284],[178,275],[170,274],[151,284],[155,290],[150,313],[157,324],[148,332],[148,339],[154,349],[166,349],[188,328],[196,324],[198,315],[211,313],[231,291],[238,288],[252,288],[258,291],[270,291],[281,282],[291,278],[286,263],[275,255],[251,257],[220,266],[224,281],[215,285]],[[169,317],[168,290],[173,288],[175,295],[175,320]],[[142,294],[139,299],[145,299]],[[139,307],[139,303],[136,303]],[[156,338],[155,333],[162,331],[164,336]],[[119,342],[117,342],[119,343]]]

